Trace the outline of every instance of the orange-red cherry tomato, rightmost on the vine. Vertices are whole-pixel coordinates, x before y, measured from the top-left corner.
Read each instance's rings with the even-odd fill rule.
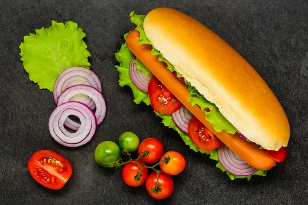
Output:
[[[166,163],[160,163],[159,167],[161,168],[161,170],[168,175],[177,175],[180,174],[186,165],[186,161],[183,157],[183,155],[181,155],[178,152],[174,152],[174,151],[169,151],[166,152],[160,159],[160,161],[164,160],[165,157],[170,157],[169,162]]]

